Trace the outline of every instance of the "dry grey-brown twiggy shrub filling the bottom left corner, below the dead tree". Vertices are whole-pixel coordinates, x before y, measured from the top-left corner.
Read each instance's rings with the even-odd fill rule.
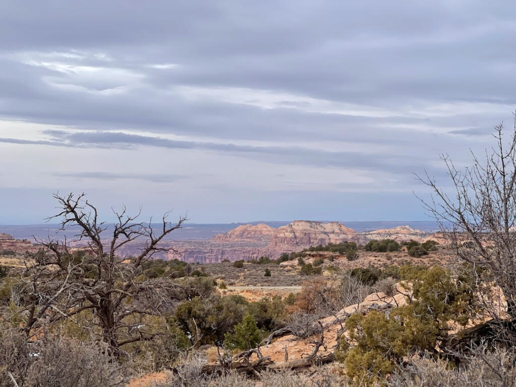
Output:
[[[45,336],[27,344],[19,333],[0,339],[0,386],[109,387],[124,385],[122,369],[99,343]],[[12,378],[11,378],[12,375]]]

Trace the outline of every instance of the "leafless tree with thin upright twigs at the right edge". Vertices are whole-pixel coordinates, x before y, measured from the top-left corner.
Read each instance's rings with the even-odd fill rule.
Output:
[[[418,178],[432,190],[425,208],[440,222],[457,256],[473,265],[482,306],[516,340],[516,114],[509,141],[503,124],[493,136],[496,145],[486,150],[485,159],[472,152],[473,166],[465,170],[441,156],[453,193],[428,173]]]

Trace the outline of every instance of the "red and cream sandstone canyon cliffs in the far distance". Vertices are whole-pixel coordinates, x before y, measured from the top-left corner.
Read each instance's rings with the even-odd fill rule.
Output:
[[[357,232],[340,222],[295,220],[278,228],[265,223],[240,224],[236,228],[209,238],[164,240],[162,246],[173,248],[174,251],[160,252],[155,258],[203,264],[225,260],[249,261],[259,259],[261,256],[276,259],[284,252],[301,251],[316,245],[338,244],[345,241],[365,244],[371,239],[384,238],[392,238],[399,242],[410,239],[424,241],[430,235],[429,232],[413,229],[409,225]],[[125,244],[119,253],[124,256],[138,254],[142,245],[143,241],[136,239]],[[80,246],[80,243],[73,243],[75,248]],[[0,251],[23,254],[37,249],[38,247],[29,240],[14,239],[8,234],[0,234]]]

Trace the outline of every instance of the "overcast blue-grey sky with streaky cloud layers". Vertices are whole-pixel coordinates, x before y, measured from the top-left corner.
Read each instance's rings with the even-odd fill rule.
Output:
[[[0,0],[0,224],[427,219],[414,173],[512,129],[515,44],[508,1]]]

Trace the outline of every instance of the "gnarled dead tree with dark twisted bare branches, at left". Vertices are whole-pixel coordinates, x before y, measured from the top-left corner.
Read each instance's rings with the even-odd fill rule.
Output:
[[[99,221],[97,209],[84,193],[54,198],[60,212],[51,219],[60,218],[62,230],[78,226],[77,240],[87,247],[82,253],[73,253],[66,239],[38,241],[42,249],[27,261],[20,289],[27,337],[57,321],[70,319],[80,324],[77,318],[88,316],[86,328],[100,334],[119,356],[127,344],[153,341],[165,334],[151,329],[148,318],[171,307],[179,286],[170,278],[147,278],[144,264],[156,253],[172,250],[164,247],[164,238],[186,218],[170,223],[166,213],[155,230],[152,219],[137,222],[139,214],[127,215],[124,207],[121,213],[115,212],[117,222],[111,232]],[[119,255],[123,246],[136,239],[142,244],[136,256]]]

